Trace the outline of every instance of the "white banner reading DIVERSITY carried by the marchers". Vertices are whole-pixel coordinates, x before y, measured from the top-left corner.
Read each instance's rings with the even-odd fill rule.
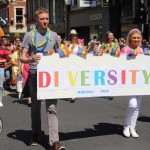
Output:
[[[38,99],[149,95],[150,56],[43,56],[37,79]]]

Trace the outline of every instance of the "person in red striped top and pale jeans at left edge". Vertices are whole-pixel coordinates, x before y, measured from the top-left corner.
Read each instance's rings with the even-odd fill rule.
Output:
[[[4,79],[4,63],[9,61],[9,53],[8,51],[2,47],[2,43],[0,43],[0,107],[3,107],[2,96],[3,96],[3,79]]]

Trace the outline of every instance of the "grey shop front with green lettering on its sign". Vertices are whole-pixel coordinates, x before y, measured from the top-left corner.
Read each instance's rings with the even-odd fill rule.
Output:
[[[79,38],[84,38],[85,43],[91,39],[105,40],[105,33],[109,30],[108,8],[96,7],[71,12],[69,27],[76,29]]]

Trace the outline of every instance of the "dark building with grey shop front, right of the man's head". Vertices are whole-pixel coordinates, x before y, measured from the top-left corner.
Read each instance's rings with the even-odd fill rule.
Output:
[[[96,37],[100,41],[105,40],[107,31],[112,31],[116,38],[120,38],[126,37],[129,30],[139,28],[143,37],[148,40],[150,17],[147,17],[145,22],[135,21],[135,18],[139,17],[140,1],[143,1],[144,10],[147,11],[144,15],[150,16],[148,0],[95,0],[95,6],[88,7],[86,4],[81,7],[82,0],[66,0],[68,27],[77,29],[80,37],[87,38],[85,40]]]

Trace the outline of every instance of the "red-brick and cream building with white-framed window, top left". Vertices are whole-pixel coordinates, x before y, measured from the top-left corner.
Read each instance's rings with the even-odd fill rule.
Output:
[[[23,36],[27,31],[26,0],[1,0],[0,16],[7,35]]]

